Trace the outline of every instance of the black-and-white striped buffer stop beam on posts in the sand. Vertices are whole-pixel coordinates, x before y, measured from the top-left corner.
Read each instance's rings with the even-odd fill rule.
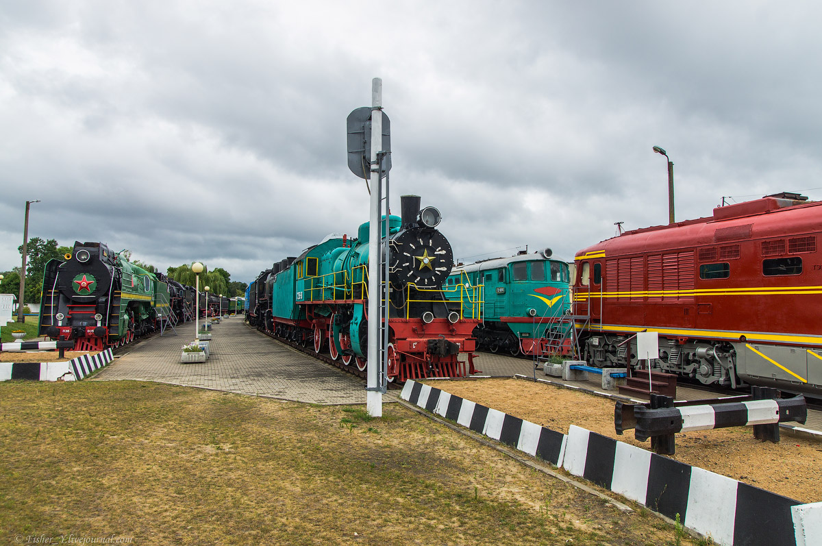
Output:
[[[657,396],[656,400],[652,396],[651,407],[617,403],[614,424],[618,434],[626,428],[635,428],[637,441],[650,438],[653,451],[661,455],[674,454],[674,434],[711,428],[753,425],[754,437],[778,442],[779,423],[805,423],[808,410],[804,396],[758,399],[772,395],[774,390],[762,389],[755,391],[754,400],[679,407],[672,407],[673,400],[667,396]]]

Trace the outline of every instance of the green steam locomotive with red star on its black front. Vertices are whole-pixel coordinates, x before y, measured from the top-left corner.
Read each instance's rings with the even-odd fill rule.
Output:
[[[170,314],[169,285],[103,243],[74,243],[45,266],[39,335],[74,340],[74,350],[124,345]]]

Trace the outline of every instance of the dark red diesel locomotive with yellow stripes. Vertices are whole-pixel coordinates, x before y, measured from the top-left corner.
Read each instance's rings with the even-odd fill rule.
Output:
[[[576,254],[574,315],[584,359],[654,367],[704,384],[822,389],[822,201],[779,193],[713,216],[635,229]]]

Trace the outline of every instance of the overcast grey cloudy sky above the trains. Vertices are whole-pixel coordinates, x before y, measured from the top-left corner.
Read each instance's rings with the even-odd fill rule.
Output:
[[[248,282],[367,221],[345,118],[383,81],[392,211],[455,257],[574,253],[722,197],[822,198],[819,2],[0,0],[0,271],[30,237]]]

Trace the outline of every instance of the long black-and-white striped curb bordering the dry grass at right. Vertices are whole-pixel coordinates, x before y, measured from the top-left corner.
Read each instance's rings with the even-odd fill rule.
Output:
[[[418,382],[400,398],[531,456],[540,456],[727,546],[822,544],[822,502],[800,504],[736,479],[571,425],[568,434]]]

